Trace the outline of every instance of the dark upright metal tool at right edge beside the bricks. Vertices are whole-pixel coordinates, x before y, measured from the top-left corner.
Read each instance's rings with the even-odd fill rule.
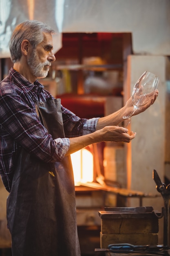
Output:
[[[153,170],[152,177],[157,184],[156,188],[159,193],[161,193],[164,201],[164,207],[162,207],[162,213],[161,216],[158,216],[157,213],[154,211],[156,214],[157,218],[162,218],[163,219],[163,246],[168,246],[168,241],[169,241],[169,200],[170,200],[170,184],[166,186],[164,183],[161,182],[159,175],[157,174],[156,170]]]

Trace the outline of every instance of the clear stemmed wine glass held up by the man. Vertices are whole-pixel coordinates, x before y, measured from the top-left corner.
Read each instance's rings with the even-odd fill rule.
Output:
[[[145,71],[140,76],[132,91],[133,111],[128,116],[123,117],[123,119],[128,119],[126,127],[130,124],[130,117],[135,113],[137,108],[144,106],[152,98],[158,84],[159,77],[151,72]]]

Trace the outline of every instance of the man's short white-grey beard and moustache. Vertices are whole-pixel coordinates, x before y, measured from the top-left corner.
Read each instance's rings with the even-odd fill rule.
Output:
[[[28,58],[28,65],[32,70],[34,76],[36,76],[37,78],[44,78],[49,72],[49,67],[46,66],[51,66],[51,62],[40,62],[36,50],[34,49],[31,53],[30,58]]]

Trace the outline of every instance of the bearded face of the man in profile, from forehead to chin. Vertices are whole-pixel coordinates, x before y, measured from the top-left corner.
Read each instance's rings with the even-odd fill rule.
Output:
[[[31,72],[37,78],[46,77],[51,62],[55,61],[55,56],[52,52],[52,36],[49,33],[43,33],[43,35],[43,41],[37,45],[36,49],[32,50],[31,55],[27,60]]]

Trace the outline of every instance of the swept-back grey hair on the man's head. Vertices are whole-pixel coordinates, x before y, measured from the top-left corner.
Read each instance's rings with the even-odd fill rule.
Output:
[[[43,40],[42,32],[55,34],[55,31],[51,27],[38,20],[26,20],[17,25],[9,43],[11,61],[15,63],[20,60],[22,56],[21,43],[24,39],[29,40],[33,49],[35,49]]]

